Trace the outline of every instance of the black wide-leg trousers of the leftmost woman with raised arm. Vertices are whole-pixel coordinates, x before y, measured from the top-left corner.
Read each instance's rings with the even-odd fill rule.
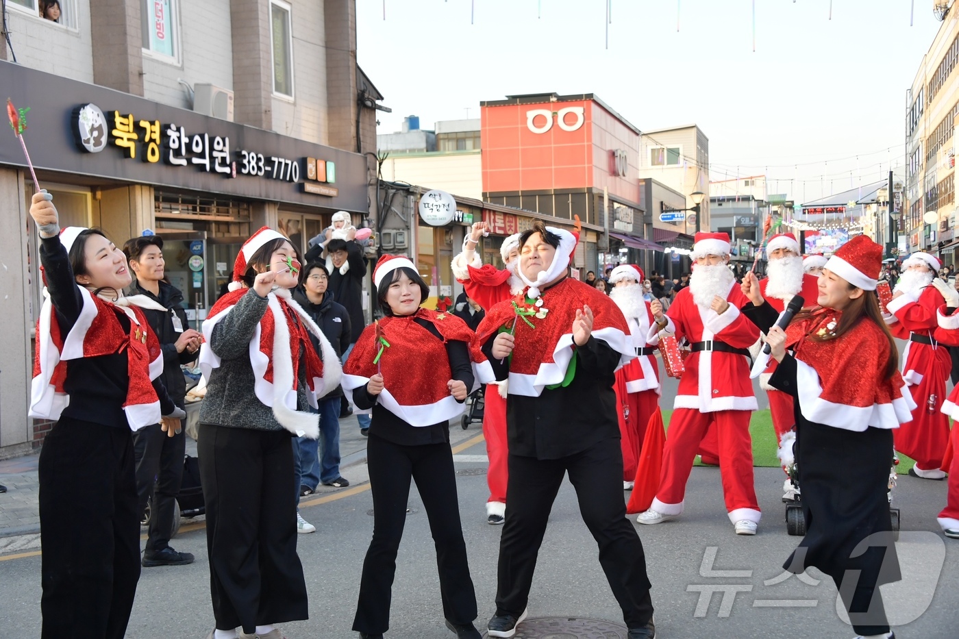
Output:
[[[120,639],[140,578],[133,441],[126,423],[61,418],[38,466],[43,639]]]

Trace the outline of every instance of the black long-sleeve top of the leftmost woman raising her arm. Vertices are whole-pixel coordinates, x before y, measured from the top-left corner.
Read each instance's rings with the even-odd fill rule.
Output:
[[[39,253],[60,335],[65,337],[80,318],[83,308],[80,287],[74,279],[69,257],[59,236],[43,238]],[[115,317],[124,332],[129,333],[127,315],[117,313]],[[127,414],[123,410],[128,388],[126,349],[110,355],[67,360],[63,390],[70,395],[70,403],[63,409],[62,415],[105,426],[129,428]],[[174,402],[159,377],[153,380],[153,390],[156,390],[160,400],[160,412],[173,413]]]

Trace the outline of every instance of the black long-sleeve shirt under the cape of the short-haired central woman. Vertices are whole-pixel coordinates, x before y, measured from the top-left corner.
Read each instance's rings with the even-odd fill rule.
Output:
[[[436,327],[433,326],[433,322],[420,318],[413,319],[413,321],[430,331],[437,340],[443,339]],[[450,370],[453,373],[453,379],[465,384],[467,390],[473,388],[473,367],[470,366],[470,353],[467,344],[456,340],[448,341],[446,343],[446,355],[450,358]],[[376,437],[404,446],[449,443],[450,441],[450,423],[448,421],[439,422],[432,426],[412,426],[377,402],[377,395],[369,394],[365,385],[353,390],[353,403],[363,411],[373,409],[371,433]]]

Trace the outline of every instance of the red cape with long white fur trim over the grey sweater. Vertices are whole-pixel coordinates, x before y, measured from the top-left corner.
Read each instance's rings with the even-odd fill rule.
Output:
[[[210,309],[209,317],[203,321],[205,343],[200,348],[199,367],[207,378],[213,368],[220,367],[220,357],[210,347],[213,329],[245,295],[256,294],[251,293],[250,289],[241,288],[222,296]],[[276,421],[285,429],[294,435],[316,439],[319,437],[318,415],[296,410],[300,347],[305,345],[305,376],[310,387],[307,398],[314,408],[317,397],[322,397],[339,385],[339,358],[313,319],[293,301],[289,291],[271,291],[268,299],[267,311],[249,342],[256,397],[272,408]],[[293,321],[293,317],[299,321]],[[285,321],[278,323],[278,318]],[[316,354],[307,331],[316,336],[322,349],[322,358]]]

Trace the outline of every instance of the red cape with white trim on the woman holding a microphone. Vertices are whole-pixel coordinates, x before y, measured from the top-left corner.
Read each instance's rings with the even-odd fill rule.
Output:
[[[839,338],[825,342],[808,338],[838,324],[840,314],[818,309],[786,329],[786,347],[796,357],[799,407],[809,421],[849,431],[868,427],[899,428],[912,420],[912,395],[903,393],[899,371],[885,379],[889,341],[871,319],[860,319]]]

